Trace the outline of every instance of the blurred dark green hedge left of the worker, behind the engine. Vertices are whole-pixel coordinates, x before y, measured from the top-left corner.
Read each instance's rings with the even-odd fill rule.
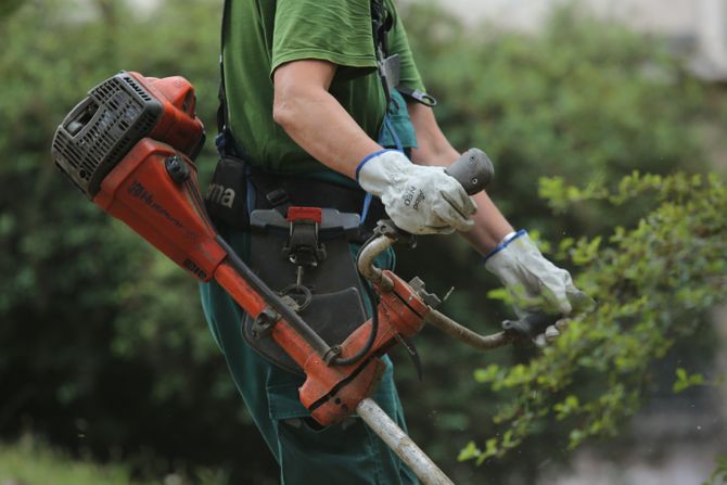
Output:
[[[240,476],[255,481],[272,459],[242,412],[196,284],[86,201],[50,157],[63,116],[120,69],[184,75],[214,126],[220,4],[166,9],[48,0],[15,2],[0,18],[13,39],[0,50],[0,432],[13,439],[29,427],[100,459],[114,448],[151,474],[234,462],[250,447],[256,467]],[[203,178],[213,145],[197,159]]]

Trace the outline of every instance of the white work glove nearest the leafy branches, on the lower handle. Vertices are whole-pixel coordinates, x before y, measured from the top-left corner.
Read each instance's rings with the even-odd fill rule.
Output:
[[[485,257],[485,268],[514,298],[514,310],[521,321],[535,315],[560,318],[545,333],[535,336],[534,342],[538,345],[559,336],[566,323],[565,317],[588,310],[595,304],[575,288],[571,273],[543,256],[524,230],[508,234]]]

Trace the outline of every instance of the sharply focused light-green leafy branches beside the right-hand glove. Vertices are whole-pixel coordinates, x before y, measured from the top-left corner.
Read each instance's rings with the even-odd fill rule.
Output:
[[[558,256],[579,267],[577,284],[598,307],[573,319],[557,344],[530,362],[475,372],[477,382],[505,398],[494,417],[503,431],[484,450],[470,443],[461,459],[501,457],[553,420],[567,423],[570,448],[589,436],[614,435],[640,408],[652,363],[692,337],[705,311],[727,301],[727,188],[716,176],[634,173],[618,190],[589,195],[553,180],[541,188],[556,207],[594,199],[615,206],[649,199],[655,207],[636,227],[616,227],[608,240],[560,243]],[[675,371],[684,381],[675,384],[679,390],[704,383]]]

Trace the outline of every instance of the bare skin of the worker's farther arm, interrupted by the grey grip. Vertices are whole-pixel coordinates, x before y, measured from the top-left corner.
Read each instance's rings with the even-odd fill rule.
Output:
[[[460,154],[439,129],[432,109],[420,103],[408,103],[407,109],[417,130],[419,144],[411,153],[412,162],[420,165],[449,166]],[[486,192],[475,194],[474,201],[477,204],[477,212],[473,216],[474,228],[462,235],[480,254],[485,255],[512,231],[512,226]]]

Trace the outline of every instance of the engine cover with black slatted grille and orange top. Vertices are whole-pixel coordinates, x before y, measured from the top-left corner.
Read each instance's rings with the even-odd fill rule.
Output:
[[[143,138],[194,159],[205,140],[194,88],[179,76],[157,79],[125,71],[88,92],[55,130],[55,165],[93,200],[102,180]]]

